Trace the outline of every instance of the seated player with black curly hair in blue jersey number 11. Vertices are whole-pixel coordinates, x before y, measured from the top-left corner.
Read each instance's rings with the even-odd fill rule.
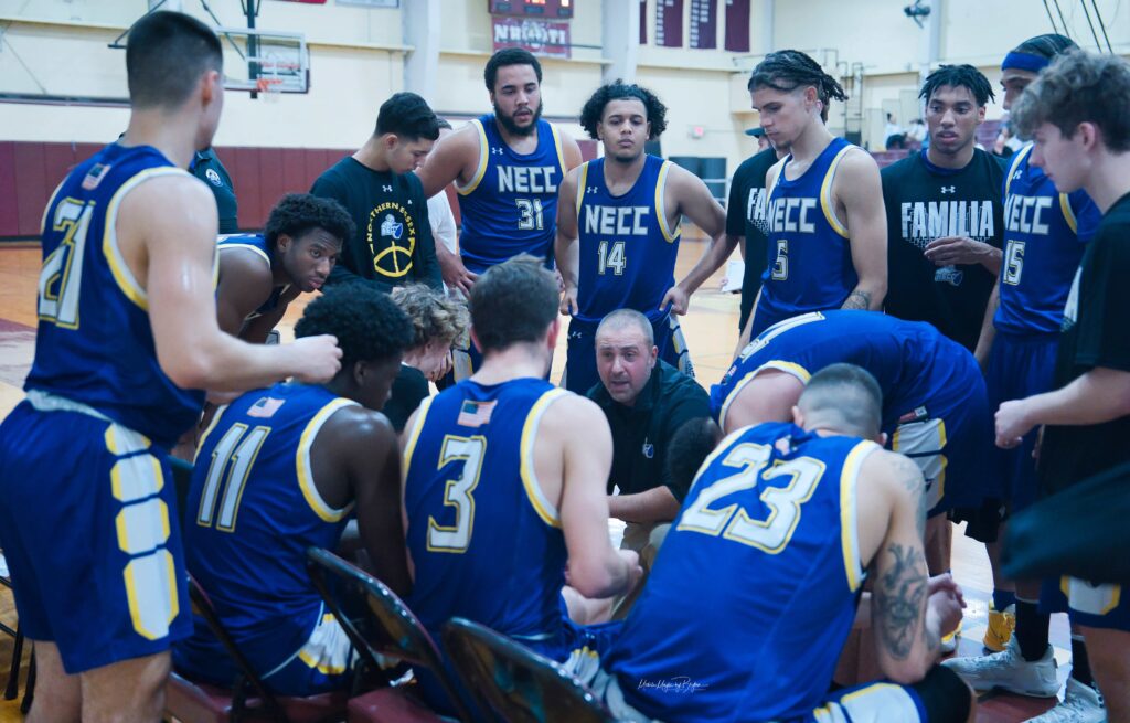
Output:
[[[269,688],[344,689],[351,647],[306,575],[306,549],[334,549],[357,519],[374,574],[410,587],[400,519],[400,448],[379,410],[414,340],[389,295],[350,284],[306,307],[298,338],[333,334],[342,368],[327,384],[280,382],[217,412],[184,509],[189,573]],[[231,656],[202,618],[173,654],[191,680],[231,686]]]

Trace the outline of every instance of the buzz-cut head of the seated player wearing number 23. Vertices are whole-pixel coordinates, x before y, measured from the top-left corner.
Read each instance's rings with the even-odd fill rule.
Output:
[[[807,430],[876,439],[883,419],[883,390],[866,369],[833,364],[808,381],[793,407],[793,419]]]

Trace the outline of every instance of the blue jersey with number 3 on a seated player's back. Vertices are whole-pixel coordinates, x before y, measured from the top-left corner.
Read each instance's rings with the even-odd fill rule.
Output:
[[[408,602],[434,636],[461,616],[567,654],[565,538],[533,471],[538,423],[565,394],[542,380],[467,380],[420,406],[405,448]]]

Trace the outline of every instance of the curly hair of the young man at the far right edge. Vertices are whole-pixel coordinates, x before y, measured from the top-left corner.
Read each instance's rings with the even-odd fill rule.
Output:
[[[1010,117],[1022,137],[1051,123],[1071,138],[1080,123],[1094,123],[1110,150],[1128,151],[1130,63],[1081,50],[1060,53],[1024,90]]]

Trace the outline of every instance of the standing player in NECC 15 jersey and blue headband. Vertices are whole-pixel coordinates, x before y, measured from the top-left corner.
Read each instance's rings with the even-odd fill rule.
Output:
[[[1062,35],[1040,35],[1012,50],[1001,64],[1005,108],[1012,106],[1055,55],[1075,47]],[[1031,160],[1028,145],[1012,157],[1005,178],[1006,262],[991,298],[989,324],[977,345],[979,351],[989,357],[985,384],[990,409],[1052,389],[1059,330],[1071,280],[1085,244],[1094,236],[1101,219],[1086,191],[1060,193]],[[1031,432],[1018,447],[994,450],[996,472],[1003,479],[1009,515],[1038,498],[1035,446],[1036,433]],[[998,573],[999,542],[986,547],[993,566],[993,599],[984,645],[1000,654],[958,659],[950,664],[976,688],[1055,695],[1059,680],[1049,645],[1050,618],[1037,602],[1054,607],[1059,592],[1041,594],[1040,581],[1016,581],[1014,589],[1014,583]],[[1063,703],[1033,721],[1105,720],[1102,698],[1094,689],[1086,644],[1077,630],[1071,634],[1071,659]]]

